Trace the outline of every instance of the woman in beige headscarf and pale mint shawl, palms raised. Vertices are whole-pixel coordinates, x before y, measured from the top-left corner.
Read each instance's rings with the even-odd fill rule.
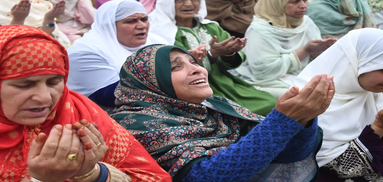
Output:
[[[246,61],[232,74],[279,98],[294,77],[336,40],[321,40],[306,0],[259,0],[246,37]]]

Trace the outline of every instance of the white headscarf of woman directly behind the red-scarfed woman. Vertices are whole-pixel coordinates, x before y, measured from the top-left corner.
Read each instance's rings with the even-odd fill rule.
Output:
[[[70,90],[89,96],[97,90],[119,81],[119,71],[126,58],[137,49],[168,42],[149,33],[144,45],[126,47],[117,40],[116,21],[135,13],[146,14],[136,0],[113,0],[98,8],[92,29],[68,49]]]

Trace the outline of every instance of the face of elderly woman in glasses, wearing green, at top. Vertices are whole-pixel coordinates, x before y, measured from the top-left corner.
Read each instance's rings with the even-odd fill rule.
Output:
[[[200,0],[175,0],[175,16],[178,18],[193,18],[200,9]]]

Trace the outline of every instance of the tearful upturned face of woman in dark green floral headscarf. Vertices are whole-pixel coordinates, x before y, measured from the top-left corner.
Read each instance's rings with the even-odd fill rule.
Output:
[[[208,71],[193,56],[180,49],[170,52],[172,84],[179,100],[200,104],[213,95],[208,84]]]

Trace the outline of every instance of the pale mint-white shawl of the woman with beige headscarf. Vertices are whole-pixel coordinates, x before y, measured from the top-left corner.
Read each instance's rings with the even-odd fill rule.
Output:
[[[290,85],[293,78],[301,72],[293,51],[310,40],[322,39],[319,28],[306,15],[302,24],[294,29],[275,27],[254,16],[245,37],[248,38],[243,49],[246,61],[232,71],[232,74],[253,85],[277,79]],[[309,56],[301,60],[302,69],[308,63]]]

